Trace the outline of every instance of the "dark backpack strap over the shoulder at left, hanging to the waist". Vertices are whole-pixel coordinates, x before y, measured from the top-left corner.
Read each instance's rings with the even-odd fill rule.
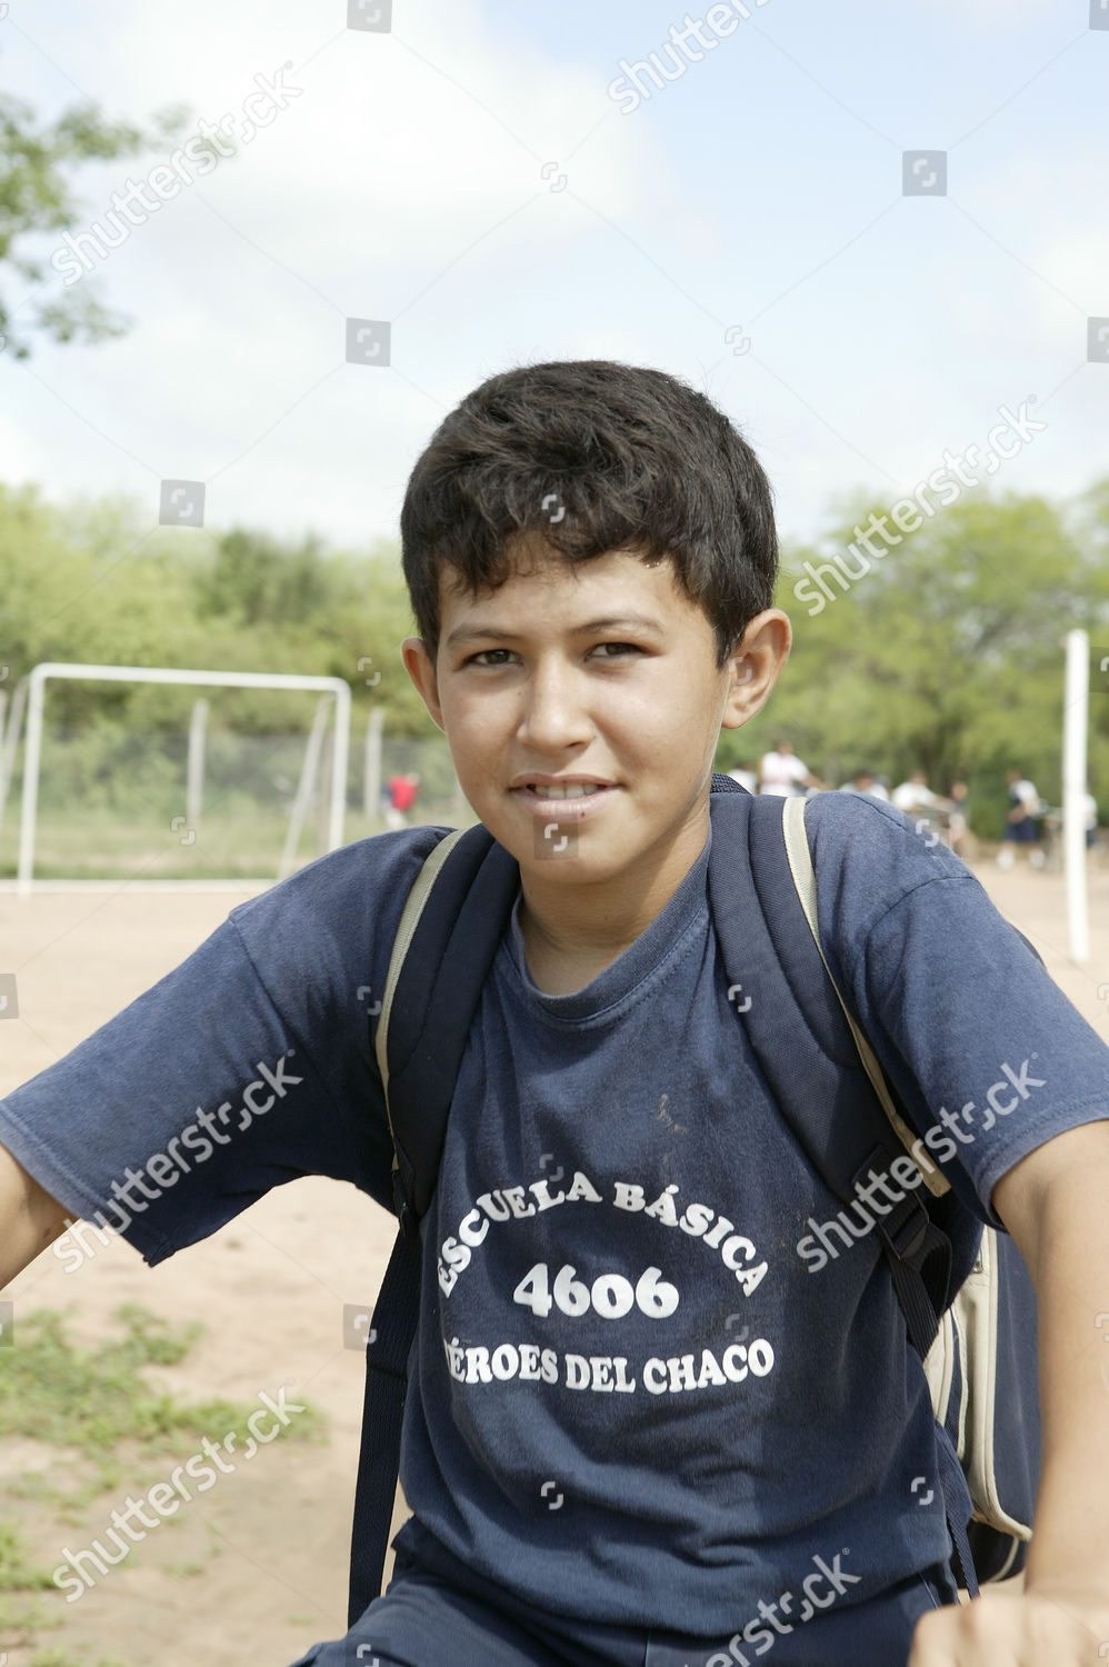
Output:
[[[380,1592],[420,1284],[420,1220],[435,1192],[447,1115],[482,987],[519,890],[519,864],[480,823],[427,859],[397,929],[375,1052],[394,1137],[400,1232],[365,1350],[362,1449],[347,1625]]]

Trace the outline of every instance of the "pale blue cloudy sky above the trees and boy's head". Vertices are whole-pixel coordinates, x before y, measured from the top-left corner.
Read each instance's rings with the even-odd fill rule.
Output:
[[[50,233],[43,285],[3,277],[20,327],[78,285],[132,320],[0,352],[7,483],[362,550],[457,400],[549,358],[709,393],[787,538],[946,455],[996,492],[1109,470],[1109,0],[0,13],[0,92],[42,120],[238,137],[203,177],[172,142],[83,167],[83,253]]]

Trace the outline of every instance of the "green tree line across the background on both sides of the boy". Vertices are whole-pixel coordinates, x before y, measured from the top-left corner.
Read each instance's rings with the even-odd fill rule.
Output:
[[[1109,480],[1067,505],[964,498],[846,588],[829,580],[836,600],[812,612],[794,597],[804,563],[832,560],[867,513],[785,552],[794,652],[767,710],[722,732],[717,767],[754,762],[784,732],[836,785],[861,765],[892,780],[922,767],[939,790],[964,775],[997,820],[1019,765],[1057,803],[1062,637],[1084,625],[1109,652]],[[400,660],[415,625],[387,540],[355,553],[315,535],[152,528],[123,498],[57,507],[0,487],[0,690],[47,658],[315,673],[347,678],[362,715],[384,705],[394,737],[439,733]],[[220,698],[248,732],[289,722],[272,693]],[[90,700],[58,683],[50,700],[70,728],[180,727],[180,698],[157,687],[102,685]],[[1091,788],[1109,810],[1109,688],[1091,697]]]

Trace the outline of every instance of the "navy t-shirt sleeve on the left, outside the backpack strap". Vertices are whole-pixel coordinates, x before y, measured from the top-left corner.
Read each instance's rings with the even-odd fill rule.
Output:
[[[300,1175],[354,1182],[389,1209],[375,1009],[405,897],[445,832],[359,840],[240,904],[0,1100],[0,1144],[152,1265]]]

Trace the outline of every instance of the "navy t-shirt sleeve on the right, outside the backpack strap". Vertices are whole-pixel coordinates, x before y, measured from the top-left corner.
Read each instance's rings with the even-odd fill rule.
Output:
[[[1109,1047],[931,830],[867,798],[809,808],[832,975],[924,1154],[997,1227],[1014,1164],[1109,1119]]]

